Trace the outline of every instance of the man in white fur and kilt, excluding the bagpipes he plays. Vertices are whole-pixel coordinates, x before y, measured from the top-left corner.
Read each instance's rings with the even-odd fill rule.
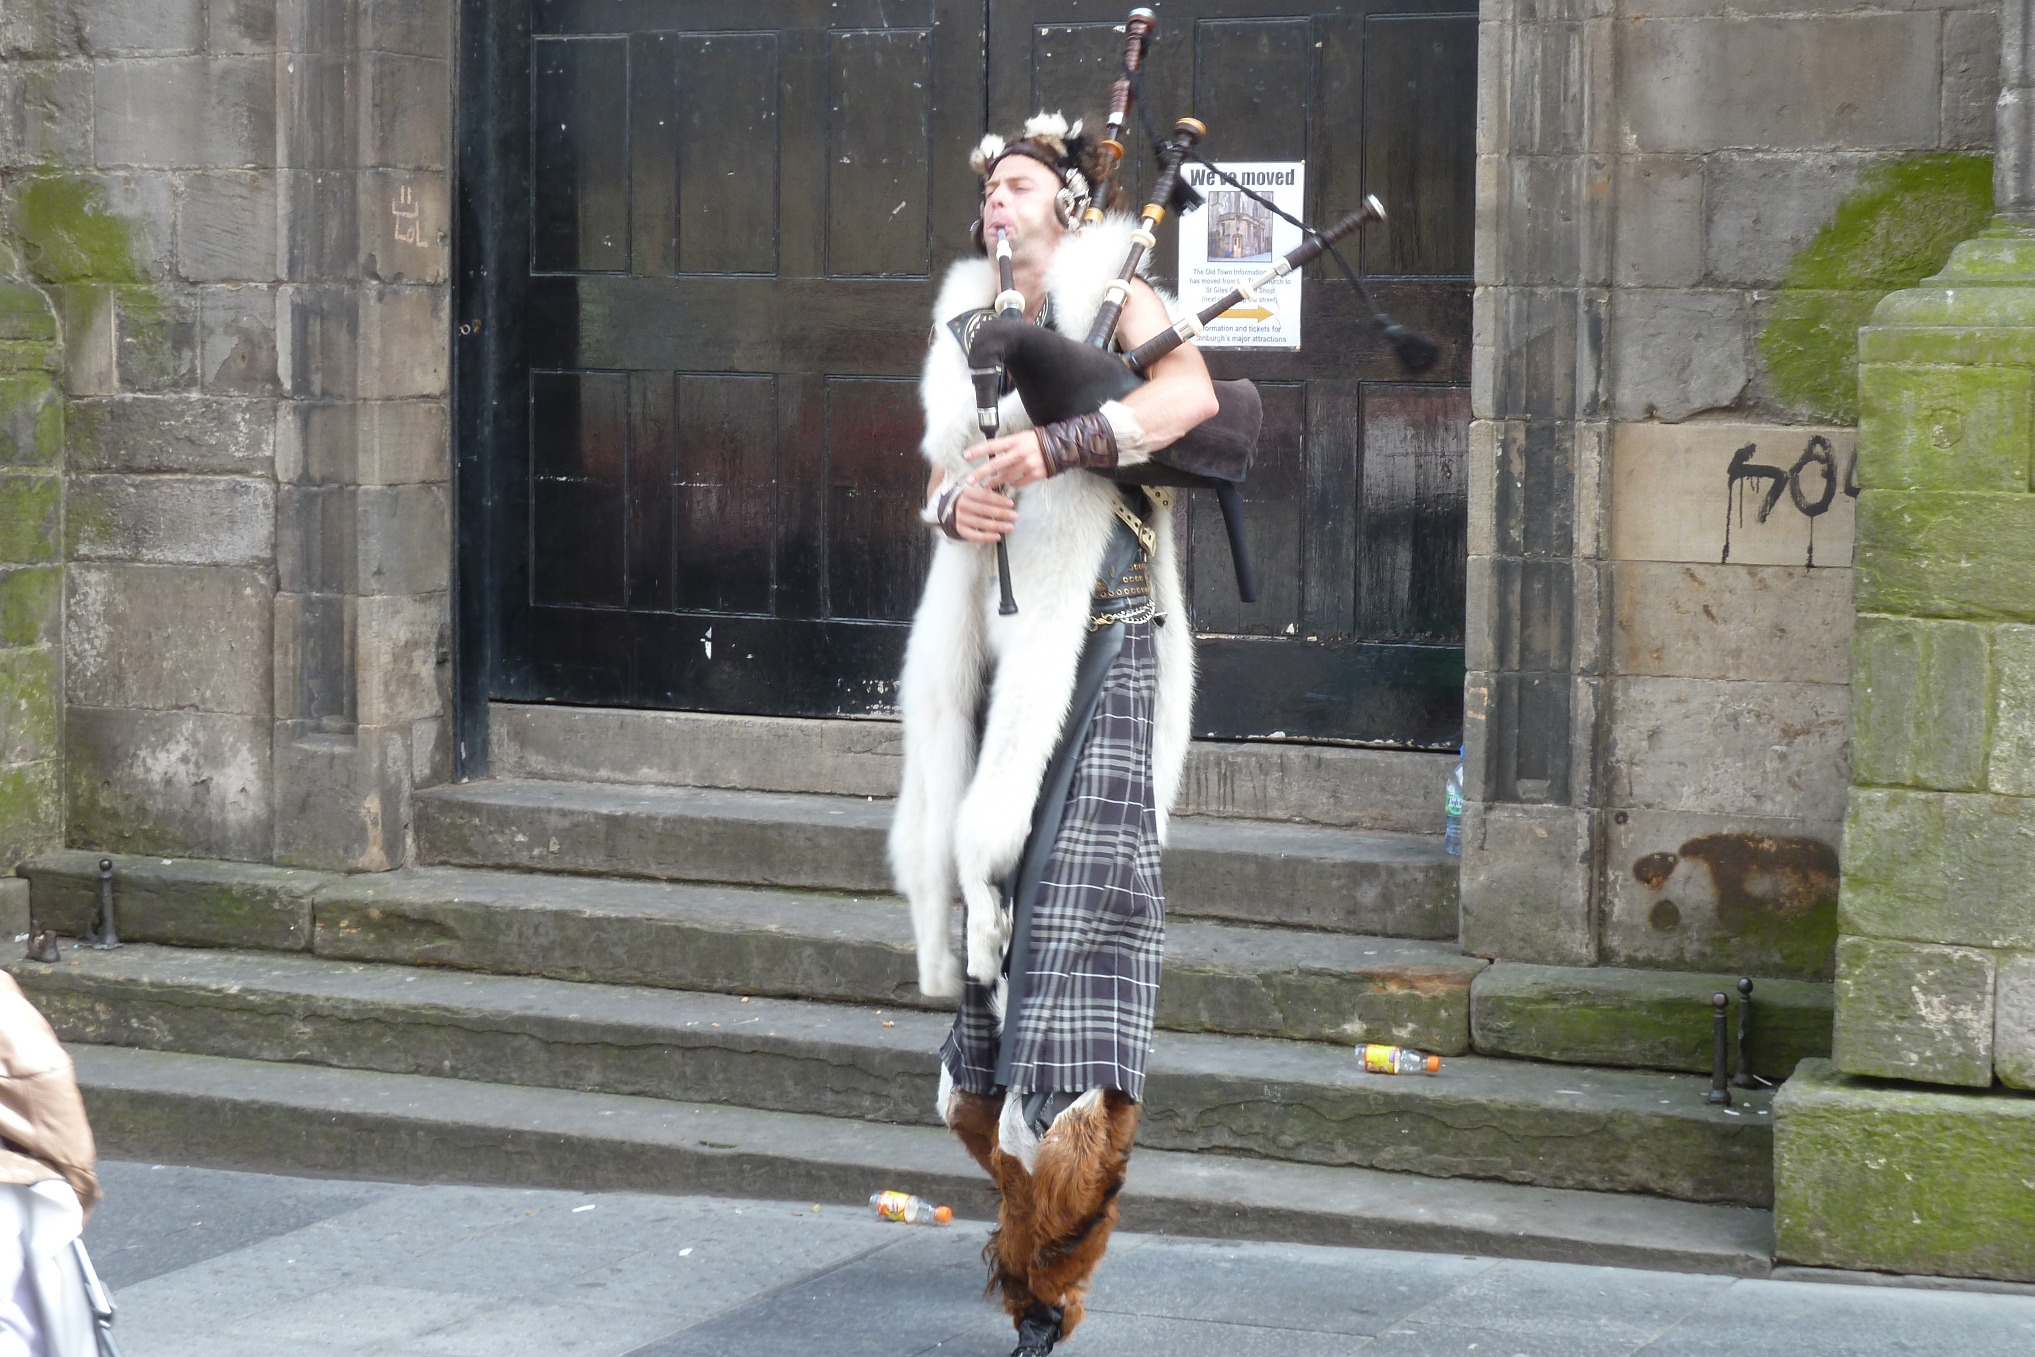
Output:
[[[1111,179],[1081,124],[1040,114],[1009,142],[985,136],[971,163],[979,242],[1009,244],[1018,297],[997,309],[1079,342],[1121,291],[1121,348],[1172,326],[1142,279],[1113,289],[1131,218],[1074,230]],[[1032,427],[1020,393],[981,411],[969,328],[948,321],[997,301],[995,264],[965,258],[934,307],[922,452],[944,537],[906,651],[889,850],[920,989],[961,997],[940,1115],[999,1192],[983,1253],[1032,1357],[1081,1322],[1117,1219],[1158,999],[1160,844],[1195,692],[1170,496],[1111,474],[1215,415],[1217,397],[1180,344],[1093,413]],[[985,421],[1005,433],[981,441]],[[997,541],[1022,598],[1009,612]],[[948,944],[956,895],[965,970]]]

